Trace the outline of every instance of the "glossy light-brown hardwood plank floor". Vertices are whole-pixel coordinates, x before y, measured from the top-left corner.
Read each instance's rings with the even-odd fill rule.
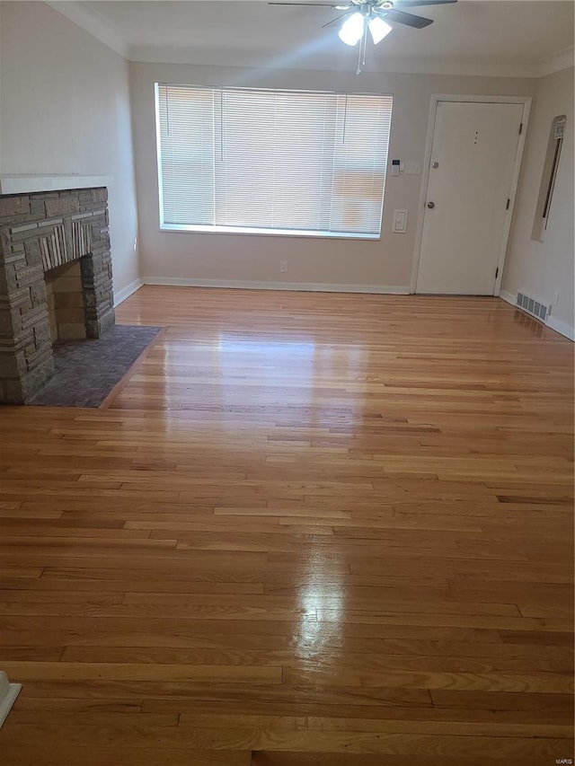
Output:
[[[490,298],[145,287],[0,410],[3,766],[573,757],[573,346]]]

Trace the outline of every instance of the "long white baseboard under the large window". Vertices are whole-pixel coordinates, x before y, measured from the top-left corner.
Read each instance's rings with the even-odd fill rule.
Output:
[[[409,295],[408,286],[338,285],[320,282],[252,282],[239,279],[185,279],[181,277],[144,277],[145,285],[166,287],[231,287],[241,290],[296,290],[314,293],[376,293]]]

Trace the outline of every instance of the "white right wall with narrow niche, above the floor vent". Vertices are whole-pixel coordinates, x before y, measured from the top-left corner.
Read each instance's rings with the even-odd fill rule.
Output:
[[[567,130],[555,180],[544,242],[531,239],[549,131],[554,117],[567,115]],[[573,68],[537,81],[535,109],[526,141],[523,171],[502,283],[509,299],[517,291],[553,306],[549,324],[575,338],[573,330]]]

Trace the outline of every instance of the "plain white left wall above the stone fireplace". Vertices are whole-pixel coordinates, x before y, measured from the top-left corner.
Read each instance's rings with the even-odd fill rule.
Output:
[[[118,295],[138,277],[128,62],[46,4],[0,6],[0,172],[113,178]]]

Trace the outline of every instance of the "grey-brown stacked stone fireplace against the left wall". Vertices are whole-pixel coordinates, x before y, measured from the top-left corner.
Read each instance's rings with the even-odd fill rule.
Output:
[[[0,195],[0,403],[49,380],[53,343],[112,324],[108,190]]]

